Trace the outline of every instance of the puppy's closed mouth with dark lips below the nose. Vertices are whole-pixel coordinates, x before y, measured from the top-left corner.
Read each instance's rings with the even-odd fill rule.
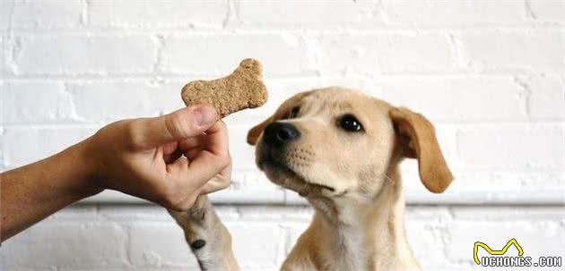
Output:
[[[302,197],[320,195],[324,190],[335,192],[333,187],[307,181],[307,178],[302,174],[275,159],[262,159],[261,164],[271,182],[291,191],[296,191]],[[269,174],[269,171],[272,171],[273,174]]]

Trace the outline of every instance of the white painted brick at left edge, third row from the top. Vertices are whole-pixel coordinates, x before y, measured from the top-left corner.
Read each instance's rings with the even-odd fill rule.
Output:
[[[71,96],[62,82],[9,81],[4,86],[4,123],[49,123],[74,119]]]

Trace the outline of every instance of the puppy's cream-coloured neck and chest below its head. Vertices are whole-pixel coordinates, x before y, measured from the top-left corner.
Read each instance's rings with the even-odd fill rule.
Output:
[[[312,222],[322,233],[317,257],[341,270],[419,269],[404,234],[404,197],[396,168],[368,202],[310,199]],[[331,264],[330,264],[331,262]],[[328,265],[329,264],[329,265]]]

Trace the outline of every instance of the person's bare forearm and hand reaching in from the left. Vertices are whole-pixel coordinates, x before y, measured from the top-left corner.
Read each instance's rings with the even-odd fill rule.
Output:
[[[227,129],[213,107],[111,123],[52,157],[0,174],[0,238],[105,189],[186,210],[199,194],[227,187],[230,171]]]

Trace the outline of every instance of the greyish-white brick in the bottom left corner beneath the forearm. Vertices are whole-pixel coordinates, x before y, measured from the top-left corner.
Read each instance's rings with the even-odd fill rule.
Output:
[[[2,244],[8,270],[120,269],[127,266],[124,228],[110,223],[40,223]]]

